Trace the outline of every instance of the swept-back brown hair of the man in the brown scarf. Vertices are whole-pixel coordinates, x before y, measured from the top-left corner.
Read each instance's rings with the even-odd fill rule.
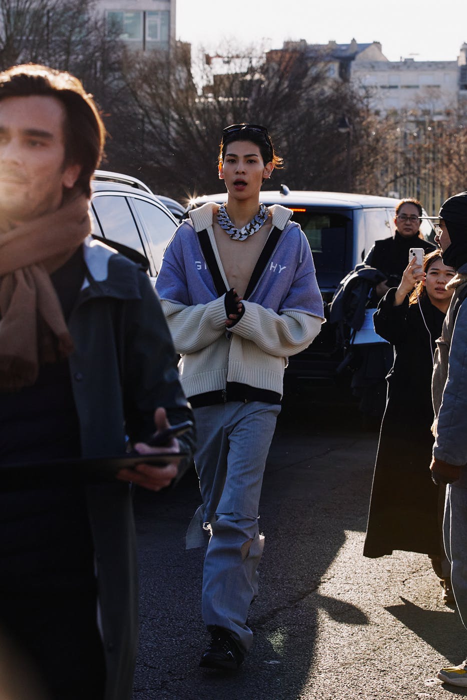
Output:
[[[102,158],[105,127],[92,95],[65,71],[23,64],[0,73],[0,100],[7,97],[55,97],[65,108],[65,165],[81,165],[76,186],[90,196],[90,179]]]

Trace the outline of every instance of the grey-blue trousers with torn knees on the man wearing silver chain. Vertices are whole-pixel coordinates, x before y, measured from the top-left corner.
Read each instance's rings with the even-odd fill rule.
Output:
[[[194,409],[198,449],[196,471],[203,506],[187,534],[187,546],[199,544],[196,530],[208,531],[203,568],[203,620],[223,627],[246,651],[252,631],[248,608],[257,595],[257,568],[264,536],[258,505],[264,466],[280,405],[232,401]]]

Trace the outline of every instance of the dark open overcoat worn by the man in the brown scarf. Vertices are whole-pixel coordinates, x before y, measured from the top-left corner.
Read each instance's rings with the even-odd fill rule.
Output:
[[[142,269],[87,240],[88,272],[69,318],[69,358],[83,456],[123,454],[154,433],[154,409],[171,423],[192,419],[179,383],[161,304]],[[183,447],[193,445],[183,445]],[[88,486],[107,666],[105,700],[130,700],[137,647],[135,528],[129,484]]]

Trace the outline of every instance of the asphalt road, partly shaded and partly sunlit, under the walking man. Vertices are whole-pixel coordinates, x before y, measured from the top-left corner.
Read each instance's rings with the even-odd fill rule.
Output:
[[[467,632],[441,601],[428,558],[362,556],[377,433],[353,405],[290,402],[264,477],[266,535],[255,643],[235,673],[202,671],[201,549],[184,550],[193,474],[135,498],[141,636],[134,700],[438,699],[435,680],[467,655]]]

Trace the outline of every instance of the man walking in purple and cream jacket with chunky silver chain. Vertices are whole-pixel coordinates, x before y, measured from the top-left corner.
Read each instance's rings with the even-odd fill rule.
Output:
[[[263,181],[280,165],[265,127],[226,127],[226,203],[190,212],[156,282],[196,416],[203,505],[187,547],[210,535],[202,610],[211,643],[200,663],[208,668],[237,668],[252,644],[247,616],[264,545],[259,496],[283,374],[287,356],[306,348],[323,322],[304,233],[290,209],[259,204]]]

